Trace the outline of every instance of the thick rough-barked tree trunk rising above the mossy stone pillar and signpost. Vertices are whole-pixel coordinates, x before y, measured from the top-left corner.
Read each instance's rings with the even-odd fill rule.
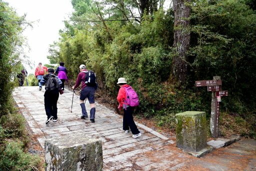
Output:
[[[181,83],[185,84],[187,79],[187,56],[189,48],[190,32],[188,30],[190,7],[185,5],[190,0],[173,0],[174,10],[174,42],[177,54],[172,60],[172,74]]]

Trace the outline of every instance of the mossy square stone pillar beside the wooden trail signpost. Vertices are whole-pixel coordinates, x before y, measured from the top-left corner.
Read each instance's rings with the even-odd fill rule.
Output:
[[[176,146],[199,151],[206,146],[206,115],[204,111],[185,111],[176,115]]]

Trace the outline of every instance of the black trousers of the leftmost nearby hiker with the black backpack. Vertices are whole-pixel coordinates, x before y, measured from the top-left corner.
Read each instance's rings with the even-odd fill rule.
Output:
[[[51,90],[44,92],[44,108],[47,118],[53,116],[57,118],[57,100],[58,100],[58,90]]]

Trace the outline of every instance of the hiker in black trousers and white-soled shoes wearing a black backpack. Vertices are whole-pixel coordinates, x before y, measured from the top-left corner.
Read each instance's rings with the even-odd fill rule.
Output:
[[[48,74],[44,75],[40,80],[40,84],[45,84],[44,92],[44,108],[47,115],[45,124],[48,124],[51,119],[56,122],[57,117],[57,100],[59,96],[59,89],[61,89],[61,80],[55,76],[54,69],[48,68]]]

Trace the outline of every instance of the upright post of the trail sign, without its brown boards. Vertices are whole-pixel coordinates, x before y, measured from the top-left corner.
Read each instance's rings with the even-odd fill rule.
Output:
[[[220,76],[213,76],[213,80],[220,79]],[[211,92],[211,110],[210,110],[210,133],[212,137],[218,137],[218,102],[216,98],[216,91]]]

